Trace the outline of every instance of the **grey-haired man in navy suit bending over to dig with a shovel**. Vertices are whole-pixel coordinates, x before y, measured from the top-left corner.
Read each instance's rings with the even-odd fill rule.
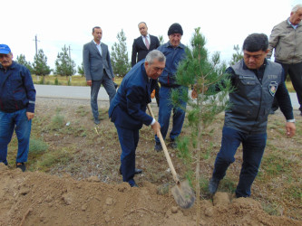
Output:
[[[162,52],[149,52],[145,61],[137,63],[126,74],[109,108],[109,117],[116,127],[122,147],[122,180],[132,187],[137,187],[133,177],[139,130],[143,124],[151,126],[155,134],[161,128],[155,118],[146,113],[146,108],[151,102],[151,90],[165,68],[165,62]]]

